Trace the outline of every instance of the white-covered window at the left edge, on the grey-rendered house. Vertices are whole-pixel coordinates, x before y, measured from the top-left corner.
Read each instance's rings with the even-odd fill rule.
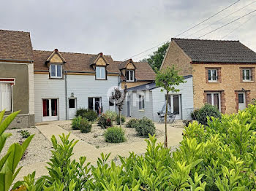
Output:
[[[10,83],[0,83],[0,111],[12,111],[12,86]]]

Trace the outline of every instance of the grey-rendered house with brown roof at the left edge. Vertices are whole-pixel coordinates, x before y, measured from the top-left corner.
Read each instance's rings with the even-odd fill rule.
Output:
[[[0,30],[0,111],[20,110],[10,128],[34,126],[34,66],[30,34]]]

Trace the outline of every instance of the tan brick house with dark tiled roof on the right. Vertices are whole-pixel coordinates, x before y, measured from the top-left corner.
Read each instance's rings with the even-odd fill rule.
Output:
[[[161,69],[192,75],[194,109],[208,103],[236,113],[256,98],[256,53],[239,41],[172,39]]]

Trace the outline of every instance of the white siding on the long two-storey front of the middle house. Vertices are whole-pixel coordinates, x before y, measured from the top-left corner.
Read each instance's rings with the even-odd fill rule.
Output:
[[[94,75],[67,75],[67,98],[74,93],[77,107],[88,108],[89,97],[101,97],[103,112],[109,110],[108,90],[118,85],[118,77],[95,80]],[[65,80],[49,79],[48,74],[34,74],[35,121],[42,121],[42,98],[59,98],[59,120],[66,120]],[[68,105],[67,105],[68,107]]]

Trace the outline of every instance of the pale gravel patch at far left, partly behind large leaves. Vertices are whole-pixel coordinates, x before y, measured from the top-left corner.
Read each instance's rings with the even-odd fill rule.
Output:
[[[48,161],[51,156],[50,149],[52,149],[50,141],[48,141],[37,128],[23,128],[22,130],[28,130],[31,135],[34,134],[34,138],[26,149],[27,154],[25,158],[20,161],[18,166]],[[7,139],[1,151],[0,158],[6,154],[11,144],[18,143],[20,140],[25,141],[20,135],[20,129],[7,129],[5,133],[12,133],[12,136]]]

